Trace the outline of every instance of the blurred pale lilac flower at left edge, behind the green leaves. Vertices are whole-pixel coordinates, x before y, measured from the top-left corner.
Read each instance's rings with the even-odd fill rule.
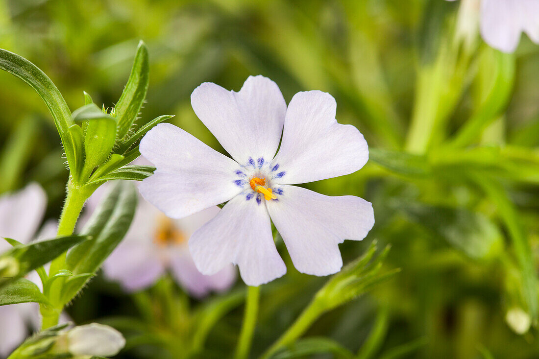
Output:
[[[0,197],[0,237],[12,238],[27,244],[34,238],[45,213],[47,198],[43,189],[36,183],[27,185],[23,190]],[[56,221],[47,221],[36,239],[53,238],[58,225]],[[0,238],[0,253],[11,245]],[[36,271],[26,276],[40,289],[41,280]],[[70,321],[62,313],[60,322]],[[34,330],[41,326],[39,305],[20,303],[0,306],[0,358],[7,357],[29,334],[26,325]]]

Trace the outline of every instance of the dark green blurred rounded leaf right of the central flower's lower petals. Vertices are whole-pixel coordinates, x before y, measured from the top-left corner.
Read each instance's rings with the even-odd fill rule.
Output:
[[[400,204],[399,209],[414,222],[471,258],[495,258],[503,248],[502,233],[480,212],[409,201]]]

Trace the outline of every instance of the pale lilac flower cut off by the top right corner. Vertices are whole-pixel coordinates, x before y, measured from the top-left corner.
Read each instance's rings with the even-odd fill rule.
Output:
[[[480,29],[485,42],[503,52],[515,51],[522,32],[537,44],[539,0],[481,0]]]

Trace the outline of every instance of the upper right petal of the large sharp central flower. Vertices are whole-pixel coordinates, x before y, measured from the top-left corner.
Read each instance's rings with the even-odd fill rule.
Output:
[[[281,148],[273,160],[284,171],[279,183],[295,184],[347,175],[369,159],[367,141],[335,120],[337,104],[321,91],[294,95],[286,112]]]

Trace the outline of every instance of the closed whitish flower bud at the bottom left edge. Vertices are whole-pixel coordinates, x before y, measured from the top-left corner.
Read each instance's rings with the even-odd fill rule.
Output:
[[[113,356],[126,345],[118,330],[98,323],[75,327],[65,335],[69,353],[78,356]]]

